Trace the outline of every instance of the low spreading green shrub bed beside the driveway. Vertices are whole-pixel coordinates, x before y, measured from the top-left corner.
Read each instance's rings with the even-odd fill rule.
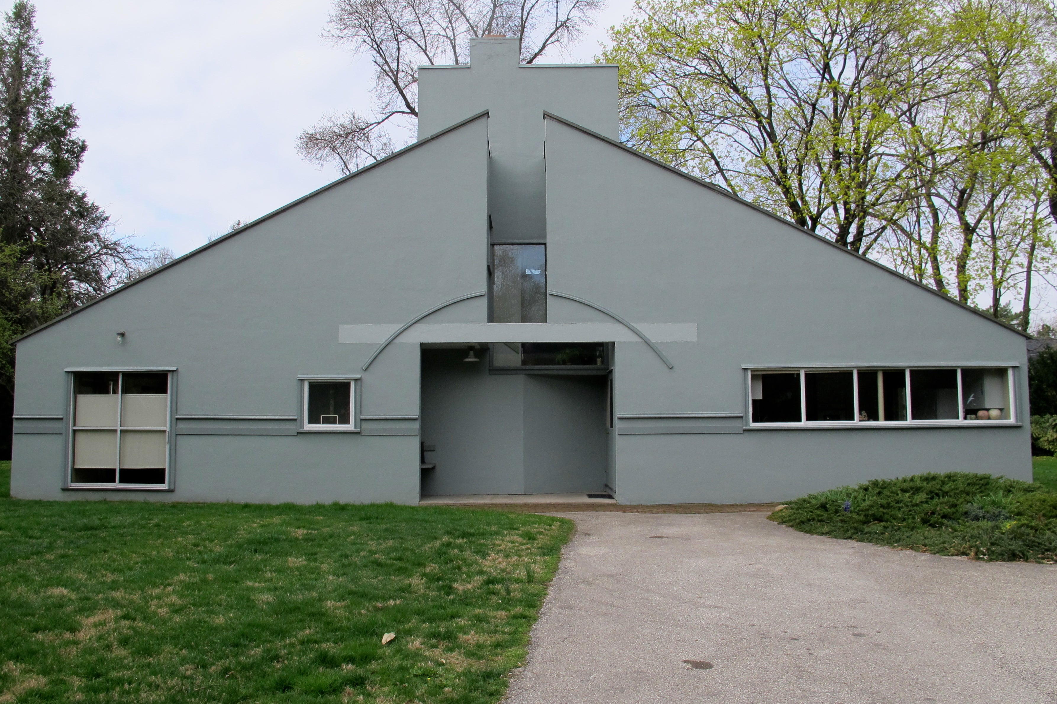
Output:
[[[938,555],[1057,562],[1057,492],[989,474],[917,474],[803,496],[771,519]]]

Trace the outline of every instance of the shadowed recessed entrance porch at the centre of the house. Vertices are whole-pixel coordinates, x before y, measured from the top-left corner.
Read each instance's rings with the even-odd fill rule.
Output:
[[[422,350],[422,495],[604,492],[608,376],[500,374],[482,353]]]

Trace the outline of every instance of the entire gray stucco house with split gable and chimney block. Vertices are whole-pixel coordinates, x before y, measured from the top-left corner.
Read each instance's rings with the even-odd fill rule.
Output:
[[[477,39],[415,144],[21,339],[13,495],[1030,479],[1023,336],[625,148],[616,74]]]

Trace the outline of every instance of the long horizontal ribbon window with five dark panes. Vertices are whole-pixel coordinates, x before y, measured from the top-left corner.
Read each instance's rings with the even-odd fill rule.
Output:
[[[752,369],[750,424],[1015,422],[1013,369]]]

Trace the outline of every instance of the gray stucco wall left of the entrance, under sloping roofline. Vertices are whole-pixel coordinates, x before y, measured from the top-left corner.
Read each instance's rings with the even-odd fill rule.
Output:
[[[350,179],[18,345],[16,414],[68,414],[67,367],[178,367],[178,415],[297,415],[299,375],[363,376],[364,415],[419,413],[418,345],[338,344],[339,324],[406,321],[485,285],[486,120]],[[452,311],[447,311],[452,315]],[[457,309],[483,320],[483,300]],[[443,318],[442,318],[443,319]],[[115,331],[127,332],[124,344]],[[60,490],[64,435],[15,435],[22,498],[413,503],[415,435],[184,435],[175,491]],[[230,425],[231,423],[220,423]],[[377,423],[375,423],[376,425]],[[407,423],[405,423],[407,425]],[[16,429],[16,433],[17,433]]]

